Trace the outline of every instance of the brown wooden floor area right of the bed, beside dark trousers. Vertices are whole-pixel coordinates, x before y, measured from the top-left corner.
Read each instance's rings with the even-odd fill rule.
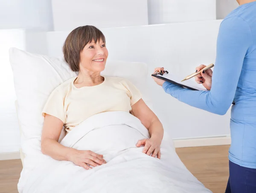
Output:
[[[229,145],[176,148],[186,168],[213,193],[224,193],[229,176]]]

